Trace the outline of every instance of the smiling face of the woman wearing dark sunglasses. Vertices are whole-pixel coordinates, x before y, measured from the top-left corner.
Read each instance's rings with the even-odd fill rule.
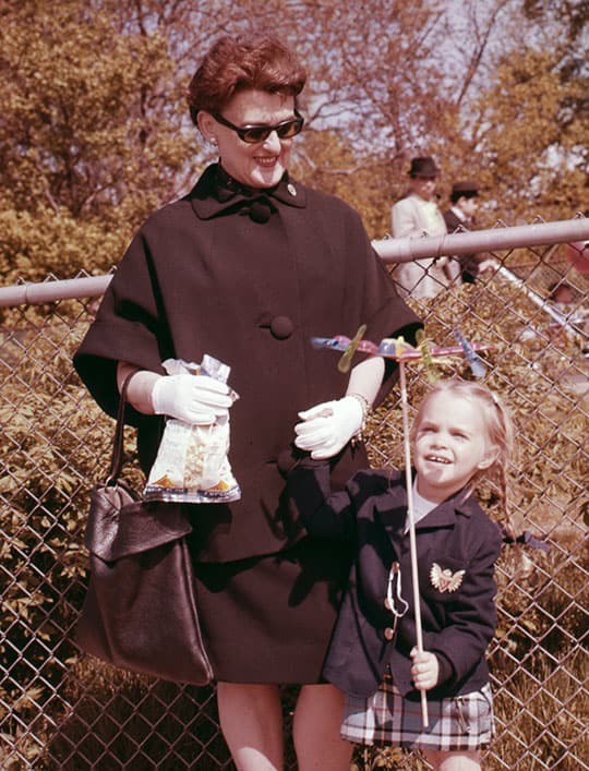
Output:
[[[248,89],[236,94],[220,116],[237,127],[276,125],[294,118],[294,97]],[[199,113],[203,136],[219,149],[223,168],[249,188],[273,188],[288,168],[292,137],[280,140],[275,131],[256,144],[248,144],[206,111]]]

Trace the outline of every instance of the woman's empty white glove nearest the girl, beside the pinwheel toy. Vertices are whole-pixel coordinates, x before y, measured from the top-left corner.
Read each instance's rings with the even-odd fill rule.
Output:
[[[361,431],[365,411],[358,398],[345,396],[299,412],[299,418],[303,422],[294,426],[294,444],[310,450],[314,460],[324,460],[337,455]]]

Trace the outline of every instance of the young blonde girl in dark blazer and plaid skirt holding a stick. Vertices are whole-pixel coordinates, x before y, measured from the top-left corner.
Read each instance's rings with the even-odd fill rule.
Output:
[[[443,771],[480,769],[492,735],[485,649],[496,624],[500,528],[472,495],[494,475],[505,498],[512,423],[484,386],[437,383],[412,431],[413,508],[423,651],[416,648],[405,473],[357,472],[329,493],[328,462],[306,457],[289,490],[306,529],[356,557],[324,676],[346,694],[341,736],[419,748]],[[421,694],[428,692],[429,726]]]

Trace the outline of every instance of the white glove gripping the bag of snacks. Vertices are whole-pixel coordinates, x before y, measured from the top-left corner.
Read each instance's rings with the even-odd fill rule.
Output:
[[[155,382],[152,403],[156,414],[178,418],[191,425],[227,418],[233,403],[226,383],[206,375],[163,375]]]

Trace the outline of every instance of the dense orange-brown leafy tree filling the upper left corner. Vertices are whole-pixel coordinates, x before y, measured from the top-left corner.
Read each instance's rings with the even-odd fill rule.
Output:
[[[3,275],[103,272],[191,146],[167,40],[105,7],[28,0],[4,8],[0,49]]]

